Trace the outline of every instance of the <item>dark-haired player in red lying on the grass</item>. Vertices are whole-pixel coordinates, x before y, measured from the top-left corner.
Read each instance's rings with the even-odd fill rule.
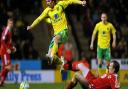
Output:
[[[82,85],[83,89],[118,89],[120,87],[117,74],[119,69],[119,63],[117,61],[111,61],[108,74],[95,77],[88,67],[80,63],[76,66],[76,70],[80,71],[74,74],[66,89],[73,89],[77,82]]]

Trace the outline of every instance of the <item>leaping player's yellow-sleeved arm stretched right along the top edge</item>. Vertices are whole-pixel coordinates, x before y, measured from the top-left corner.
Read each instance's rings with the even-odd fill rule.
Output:
[[[80,1],[80,0],[65,0],[65,1],[60,1],[58,2],[59,5],[63,6],[63,8],[65,9],[68,5],[71,4],[79,4],[79,5],[83,5],[85,6],[86,1]]]

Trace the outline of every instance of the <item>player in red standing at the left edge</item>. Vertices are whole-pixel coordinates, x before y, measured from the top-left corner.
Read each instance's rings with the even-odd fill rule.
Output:
[[[12,45],[13,19],[9,18],[7,27],[3,29],[1,36],[0,55],[2,60],[2,70],[0,73],[0,85],[4,84],[7,73],[12,69],[10,53],[15,52],[16,48]]]

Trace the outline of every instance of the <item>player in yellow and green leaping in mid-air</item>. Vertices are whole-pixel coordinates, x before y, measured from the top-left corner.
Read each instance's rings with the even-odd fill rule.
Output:
[[[80,4],[85,5],[86,1],[80,0],[66,0],[59,1],[56,0],[46,0],[48,7],[42,12],[42,14],[27,27],[27,30],[34,28],[43,19],[48,18],[54,29],[54,37],[50,43],[49,51],[47,57],[50,58],[50,63],[53,59],[57,59],[58,64],[62,64],[61,59],[56,55],[58,51],[58,44],[65,43],[68,39],[68,23],[66,20],[64,9],[70,4]]]

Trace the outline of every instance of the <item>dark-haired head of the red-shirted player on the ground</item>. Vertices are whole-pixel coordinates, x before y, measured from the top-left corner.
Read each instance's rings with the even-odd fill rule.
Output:
[[[120,64],[117,61],[111,61],[109,65],[109,73],[118,73]]]

